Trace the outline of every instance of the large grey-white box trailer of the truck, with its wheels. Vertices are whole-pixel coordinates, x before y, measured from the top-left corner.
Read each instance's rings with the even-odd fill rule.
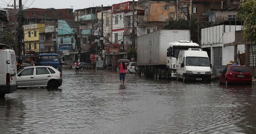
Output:
[[[138,37],[137,66],[140,76],[166,76],[166,54],[170,42],[190,40],[189,30],[158,30]]]

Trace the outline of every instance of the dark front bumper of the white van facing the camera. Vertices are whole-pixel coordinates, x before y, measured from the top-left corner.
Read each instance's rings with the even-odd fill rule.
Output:
[[[188,81],[207,81],[210,82],[211,74],[184,74],[185,79]]]

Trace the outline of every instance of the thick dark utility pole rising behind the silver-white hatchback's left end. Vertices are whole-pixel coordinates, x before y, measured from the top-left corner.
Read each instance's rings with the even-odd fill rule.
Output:
[[[18,36],[18,55],[19,55],[19,62],[23,62],[23,12],[22,12],[22,0],[19,0],[19,13],[17,17],[17,36]]]

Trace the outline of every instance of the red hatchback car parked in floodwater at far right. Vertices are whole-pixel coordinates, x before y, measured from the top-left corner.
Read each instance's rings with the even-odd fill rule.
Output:
[[[252,84],[252,75],[247,66],[230,65],[219,72],[219,83],[226,85],[231,83]]]

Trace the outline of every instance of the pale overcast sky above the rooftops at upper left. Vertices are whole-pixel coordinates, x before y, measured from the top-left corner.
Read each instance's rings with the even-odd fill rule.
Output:
[[[55,9],[84,9],[94,6],[112,6],[112,4],[122,3],[132,0],[22,0],[24,9],[27,8],[55,8]],[[135,0],[138,1],[138,0]],[[13,5],[14,0],[0,0],[0,9],[12,8],[7,5]],[[16,0],[19,5],[19,0]]]

